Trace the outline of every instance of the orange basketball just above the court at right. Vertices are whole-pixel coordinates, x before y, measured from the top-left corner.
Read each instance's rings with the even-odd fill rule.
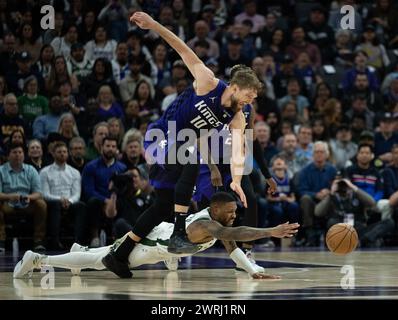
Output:
[[[348,223],[337,223],[326,234],[326,245],[335,254],[347,254],[358,245],[358,234]]]

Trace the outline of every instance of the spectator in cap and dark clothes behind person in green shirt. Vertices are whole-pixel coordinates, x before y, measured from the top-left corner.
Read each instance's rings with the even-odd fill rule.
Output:
[[[32,56],[28,51],[21,51],[15,54],[17,70],[7,74],[8,91],[14,92],[17,96],[23,94],[25,80],[35,76],[39,85],[39,92],[44,88],[44,80],[40,73],[32,68]]]

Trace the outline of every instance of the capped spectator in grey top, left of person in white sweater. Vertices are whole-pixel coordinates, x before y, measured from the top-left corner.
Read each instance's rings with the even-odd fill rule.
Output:
[[[72,44],[66,66],[69,74],[75,75],[79,81],[92,72],[93,61],[87,59],[86,50],[82,43],[76,42]]]

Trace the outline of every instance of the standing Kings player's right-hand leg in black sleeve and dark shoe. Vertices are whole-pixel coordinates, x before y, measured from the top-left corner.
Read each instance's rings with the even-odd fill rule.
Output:
[[[199,163],[184,165],[175,185],[175,225],[168,246],[168,251],[171,253],[194,253],[197,251],[197,246],[188,240],[185,219],[188,215],[198,173]]]

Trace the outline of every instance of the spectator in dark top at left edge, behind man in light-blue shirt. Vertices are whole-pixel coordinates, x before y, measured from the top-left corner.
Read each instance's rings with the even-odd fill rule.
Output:
[[[24,134],[28,132],[26,122],[18,114],[18,101],[13,93],[4,97],[4,108],[0,114],[0,146],[8,143],[14,130],[21,130]]]

